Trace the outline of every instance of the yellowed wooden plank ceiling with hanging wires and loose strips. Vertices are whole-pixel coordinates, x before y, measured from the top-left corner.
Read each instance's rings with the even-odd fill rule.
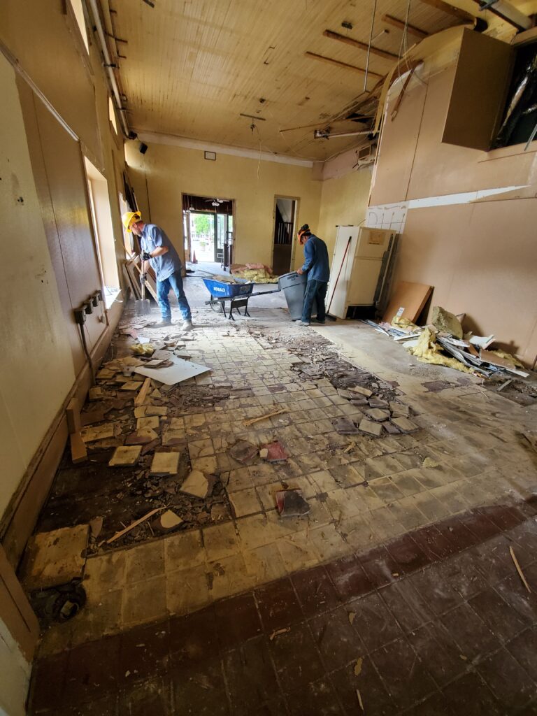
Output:
[[[367,44],[373,0],[144,0],[108,1],[115,37],[124,58],[120,79],[128,121],[137,132],[322,160],[363,137],[315,140],[314,127],[332,131],[367,129],[332,122],[364,91],[364,74],[326,62],[321,55],[364,68],[367,51],[324,35],[332,30]],[[405,21],[408,0],[377,0],[374,46],[399,56],[403,33],[382,19]],[[408,21],[429,34],[460,23],[420,0]],[[342,26],[352,24],[352,29]],[[407,46],[416,42],[407,34]],[[370,54],[367,89],[396,60]],[[241,112],[259,117],[251,120]],[[265,121],[261,120],[261,117]],[[289,127],[304,127],[281,132]]]

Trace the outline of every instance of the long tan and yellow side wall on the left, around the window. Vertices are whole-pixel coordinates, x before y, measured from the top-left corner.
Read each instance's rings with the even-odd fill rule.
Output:
[[[124,169],[122,138],[115,135],[108,118],[100,50],[89,32],[86,52],[76,20],[64,11],[66,7],[69,2],[4,0],[1,11],[0,42],[21,70],[15,82],[14,69],[0,56],[0,208],[9,246],[2,259],[0,289],[6,306],[0,352],[0,519],[9,536],[14,505],[19,506],[13,561],[47,493],[43,476],[29,483],[34,458],[41,454],[37,450],[45,447],[43,438],[62,414],[77,378],[87,378],[72,306],[100,289],[101,281],[82,153],[107,179],[116,256],[124,259],[118,197]],[[17,200],[19,196],[23,201]],[[69,284],[59,276],[62,266]],[[122,306],[116,302],[108,311],[110,325],[117,324]],[[98,344],[107,335],[106,323],[98,321],[97,314],[88,318],[90,350],[102,351]],[[34,499],[37,483],[39,498]]]

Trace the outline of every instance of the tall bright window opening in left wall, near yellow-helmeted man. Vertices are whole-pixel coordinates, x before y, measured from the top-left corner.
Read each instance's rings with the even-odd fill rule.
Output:
[[[100,171],[84,157],[89,206],[92,213],[93,231],[97,238],[97,253],[102,285],[105,288],[105,306],[110,308],[120,293],[120,277],[117,274],[114,230],[108,196],[108,182]]]

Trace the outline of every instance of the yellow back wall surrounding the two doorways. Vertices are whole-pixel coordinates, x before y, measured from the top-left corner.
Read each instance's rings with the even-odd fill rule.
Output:
[[[127,165],[137,200],[150,218],[163,227],[183,256],[181,195],[194,194],[236,200],[234,263],[271,265],[274,236],[274,197],[299,199],[297,226],[319,221],[321,183],[311,178],[311,168],[236,155],[219,154],[216,161],[203,158],[202,150],[149,144],[140,154],[140,142],[127,143]],[[296,251],[294,267],[302,262]]]

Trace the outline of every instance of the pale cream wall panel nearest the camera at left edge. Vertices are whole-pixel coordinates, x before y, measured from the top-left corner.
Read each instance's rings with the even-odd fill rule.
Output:
[[[74,382],[15,74],[0,55],[0,515]]]

